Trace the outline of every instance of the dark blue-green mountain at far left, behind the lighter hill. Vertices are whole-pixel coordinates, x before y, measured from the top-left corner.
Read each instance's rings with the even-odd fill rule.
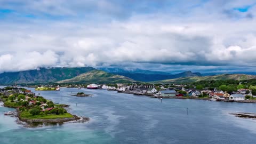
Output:
[[[80,68],[41,68],[38,70],[26,70],[14,73],[0,74],[0,84],[34,84],[50,83],[63,79],[73,78],[88,71],[95,70],[92,67]]]

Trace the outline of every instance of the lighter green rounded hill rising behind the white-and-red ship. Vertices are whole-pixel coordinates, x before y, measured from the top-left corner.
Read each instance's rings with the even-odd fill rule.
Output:
[[[65,79],[57,83],[131,83],[133,79],[106,73],[102,70],[92,70],[74,78]]]

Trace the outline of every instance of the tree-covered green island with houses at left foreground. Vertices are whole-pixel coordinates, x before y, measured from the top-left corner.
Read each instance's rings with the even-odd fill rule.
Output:
[[[5,107],[17,109],[19,121],[26,122],[28,125],[64,123],[70,121],[89,121],[87,117],[78,117],[67,112],[63,107],[68,105],[57,105],[51,100],[47,100],[34,93],[26,93],[26,89],[6,90],[1,93],[0,99]],[[7,113],[5,115],[8,115]]]

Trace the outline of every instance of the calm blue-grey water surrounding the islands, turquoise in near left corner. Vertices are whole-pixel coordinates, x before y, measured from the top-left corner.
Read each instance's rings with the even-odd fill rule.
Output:
[[[92,98],[73,97],[77,92]],[[36,92],[38,93],[38,92]],[[158,99],[106,90],[41,91],[89,123],[24,128],[0,107],[0,143],[254,143],[256,121],[229,113],[256,113],[255,103]],[[188,107],[188,115],[186,108]]]

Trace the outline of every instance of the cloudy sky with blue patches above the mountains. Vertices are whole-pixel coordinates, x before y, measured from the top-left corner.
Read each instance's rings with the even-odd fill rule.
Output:
[[[255,0],[0,0],[0,73],[255,72],[255,17]]]

